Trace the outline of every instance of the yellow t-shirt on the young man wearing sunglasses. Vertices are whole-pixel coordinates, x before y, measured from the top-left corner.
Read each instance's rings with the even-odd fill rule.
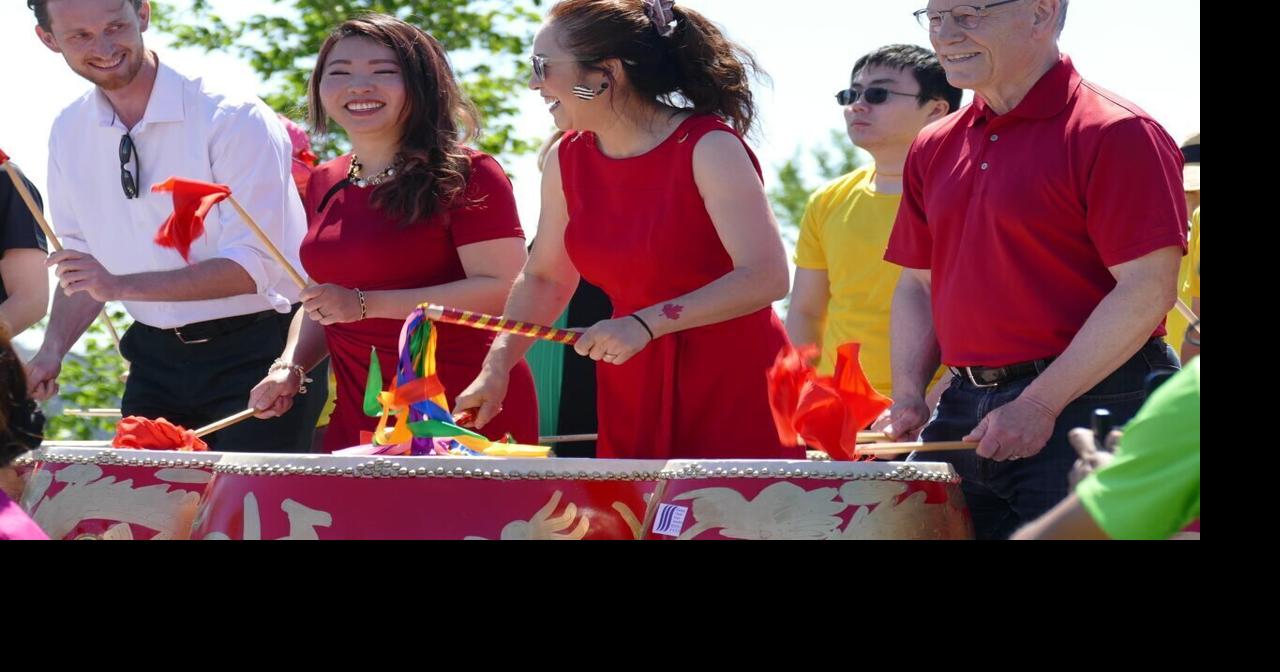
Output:
[[[856,340],[867,379],[892,396],[888,312],[902,269],[883,257],[902,198],[877,193],[874,175],[874,165],[867,165],[809,197],[795,261],[801,269],[827,271],[831,300],[818,372],[832,374],[836,348]]]

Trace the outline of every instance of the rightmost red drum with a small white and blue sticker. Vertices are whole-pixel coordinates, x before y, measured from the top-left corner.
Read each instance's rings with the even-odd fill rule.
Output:
[[[951,465],[671,461],[646,539],[973,539]]]

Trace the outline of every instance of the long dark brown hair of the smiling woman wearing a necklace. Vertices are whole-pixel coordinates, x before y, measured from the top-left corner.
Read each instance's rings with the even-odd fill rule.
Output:
[[[476,137],[480,115],[458,88],[444,47],[420,28],[387,14],[365,14],[332,32],[311,73],[311,127],[329,131],[320,81],[329,52],[346,37],[366,37],[394,51],[407,92],[399,174],[375,188],[370,202],[404,224],[458,205],[471,178],[471,159],[462,146]]]

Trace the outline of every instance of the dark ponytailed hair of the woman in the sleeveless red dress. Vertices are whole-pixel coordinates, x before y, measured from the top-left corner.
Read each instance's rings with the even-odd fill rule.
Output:
[[[764,74],[755,56],[698,12],[676,5],[672,14],[667,37],[643,0],[561,0],[549,20],[562,28],[564,49],[590,59],[588,67],[603,70],[591,63],[616,58],[640,96],[714,114],[748,133],[755,123],[750,77]]]

